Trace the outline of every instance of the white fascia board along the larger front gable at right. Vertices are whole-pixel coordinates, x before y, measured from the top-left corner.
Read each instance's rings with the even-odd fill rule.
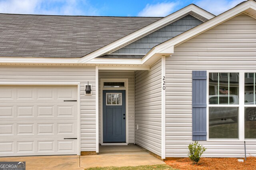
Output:
[[[249,8],[256,10],[256,2],[252,1],[252,0],[244,2],[243,4],[240,4],[239,6],[236,6],[235,8],[232,8],[231,10],[224,12],[224,13],[220,14],[219,16],[216,16],[215,18],[212,18],[211,20],[206,21],[205,23],[202,23],[202,24],[168,40],[168,41],[165,41],[164,43],[157,45],[155,48],[158,49],[158,53],[161,53],[161,52],[165,51],[166,49],[173,48],[174,46],[179,45],[179,44],[183,43],[184,41],[187,41],[187,40],[199,35],[200,33],[203,33],[205,31],[215,27],[216,25],[219,25],[220,23],[223,23],[223,22],[229,20],[230,18],[233,18],[233,17],[241,14],[242,12],[244,12],[245,10],[247,10]],[[147,55],[152,55],[152,54],[150,54],[151,52],[152,51],[150,51]]]

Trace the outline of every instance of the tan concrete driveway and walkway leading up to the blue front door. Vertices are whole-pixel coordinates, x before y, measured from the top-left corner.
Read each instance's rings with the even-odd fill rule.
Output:
[[[26,162],[26,170],[82,170],[104,166],[140,166],[165,164],[136,145],[100,146],[98,155],[90,156],[20,156],[0,157],[0,161]]]

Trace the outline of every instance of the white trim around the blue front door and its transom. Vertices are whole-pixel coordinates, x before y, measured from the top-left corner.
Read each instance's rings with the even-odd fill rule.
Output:
[[[124,88],[103,88],[104,82],[124,82]],[[103,143],[103,90],[125,90],[125,110],[126,110],[126,143],[125,145],[128,145],[128,133],[129,133],[129,125],[128,125],[128,119],[129,119],[129,110],[128,110],[128,78],[101,78],[100,79],[100,145],[106,145],[106,143]],[[97,124],[96,124],[97,126]],[[119,143],[108,143],[108,145],[120,145]]]

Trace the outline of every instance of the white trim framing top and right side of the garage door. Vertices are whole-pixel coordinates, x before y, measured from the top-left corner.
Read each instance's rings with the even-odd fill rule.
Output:
[[[80,146],[80,82],[0,82],[0,85],[76,85],[77,86],[77,102],[78,102],[78,117],[77,117],[77,155],[81,155],[81,146]]]

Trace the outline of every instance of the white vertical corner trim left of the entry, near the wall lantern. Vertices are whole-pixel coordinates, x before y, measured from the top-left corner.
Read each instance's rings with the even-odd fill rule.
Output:
[[[96,112],[96,153],[99,152],[99,69],[95,68],[95,112]]]

